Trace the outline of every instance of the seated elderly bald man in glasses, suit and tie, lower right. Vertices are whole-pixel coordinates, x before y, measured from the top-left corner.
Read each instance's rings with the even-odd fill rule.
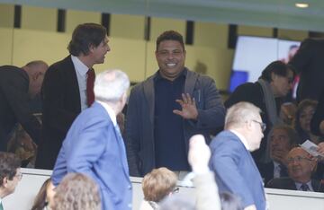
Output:
[[[287,156],[289,178],[275,178],[267,188],[282,188],[302,191],[324,192],[320,180],[311,179],[316,161],[301,147],[293,148]]]

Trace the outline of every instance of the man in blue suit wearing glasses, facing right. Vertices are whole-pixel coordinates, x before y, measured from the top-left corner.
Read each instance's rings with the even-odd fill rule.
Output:
[[[249,102],[238,102],[227,111],[225,130],[210,144],[211,170],[220,193],[240,197],[245,210],[266,209],[263,182],[250,154],[260,146],[265,129],[260,109]]]

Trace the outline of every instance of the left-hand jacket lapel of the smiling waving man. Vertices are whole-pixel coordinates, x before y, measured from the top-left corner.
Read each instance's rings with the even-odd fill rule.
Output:
[[[149,115],[149,120],[151,122],[151,125],[154,125],[154,102],[155,102],[155,97],[154,97],[154,77],[156,74],[153,76],[149,77],[148,80],[146,80],[143,83],[143,91],[144,91],[144,96],[145,99],[148,103],[148,115]]]

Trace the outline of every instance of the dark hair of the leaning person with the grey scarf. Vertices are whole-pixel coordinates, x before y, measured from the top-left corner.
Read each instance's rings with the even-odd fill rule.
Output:
[[[261,79],[266,80],[266,82],[270,83],[272,81],[271,74],[277,74],[280,76],[287,76],[289,73],[289,70],[293,72],[293,68],[289,65],[284,64],[282,61],[274,61],[270,63],[266,68],[262,71],[262,74],[260,76]],[[294,74],[294,72],[293,72]]]

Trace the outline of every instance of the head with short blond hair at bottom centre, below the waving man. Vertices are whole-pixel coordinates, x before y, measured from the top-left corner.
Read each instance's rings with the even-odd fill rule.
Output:
[[[158,203],[174,192],[176,181],[177,178],[173,171],[169,171],[165,167],[154,169],[142,180],[144,199]]]

